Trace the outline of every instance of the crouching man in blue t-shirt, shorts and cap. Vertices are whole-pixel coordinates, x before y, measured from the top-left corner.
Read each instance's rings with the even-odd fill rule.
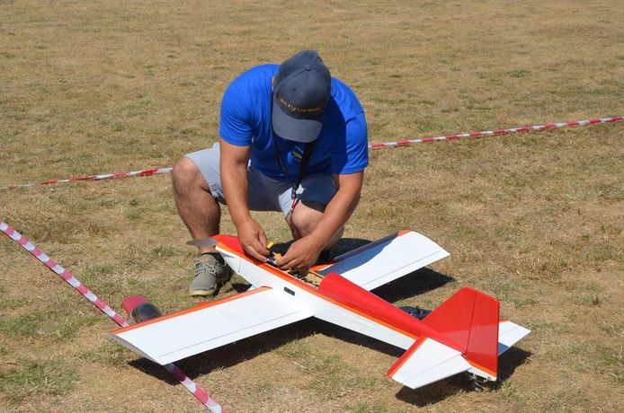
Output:
[[[249,211],[281,211],[295,242],[277,265],[312,266],[338,242],[360,198],[369,162],[360,101],[316,51],[304,50],[281,66],[238,76],[221,101],[219,135],[218,144],[187,154],[172,171],[192,238],[219,233],[218,202],[227,201],[245,252],[266,261],[266,236]],[[212,294],[231,276],[214,247],[200,252],[192,295]]]

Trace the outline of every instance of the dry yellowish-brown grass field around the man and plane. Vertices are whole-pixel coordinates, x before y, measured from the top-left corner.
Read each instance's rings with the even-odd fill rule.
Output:
[[[302,48],[361,98],[370,142],[622,115],[622,15],[577,0],[0,0],[0,187],[171,166],[216,140],[236,75]],[[370,153],[340,248],[413,229],[450,251],[376,294],[434,308],[473,286],[532,330],[484,391],[463,375],[403,388],[386,376],[397,348],[321,321],[178,365],[237,412],[621,409],[622,139],[618,122]],[[256,216],[289,241],[280,215]],[[115,309],[196,302],[166,174],[2,191],[0,220]],[[0,410],[202,410],[114,327],[0,235]]]

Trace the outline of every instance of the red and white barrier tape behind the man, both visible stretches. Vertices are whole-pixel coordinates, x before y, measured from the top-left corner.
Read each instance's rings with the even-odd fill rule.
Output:
[[[552,128],[557,128],[557,127],[585,127],[589,125],[596,125],[599,123],[617,122],[620,120],[624,120],[624,116],[616,116],[613,118],[575,120],[574,122],[548,123],[546,125],[535,125],[532,127],[510,127],[507,129],[485,130],[483,132],[472,132],[469,134],[432,136],[432,137],[424,137],[421,139],[409,139],[409,140],[403,140],[403,141],[397,141],[397,142],[386,142],[384,144],[369,144],[369,149],[381,149],[381,148],[395,147],[395,146],[423,144],[426,142],[436,142],[436,141],[450,141],[452,139],[461,139],[464,137],[497,136],[497,135],[504,135],[504,134],[513,134],[515,132],[530,132],[530,131],[535,131],[535,130],[552,129]],[[171,172],[172,169],[173,167],[156,168],[156,169],[148,169],[145,171],[104,173],[102,175],[91,175],[91,176],[85,176],[81,178],[69,178],[67,180],[46,180],[45,182],[40,182],[37,184],[27,183],[27,184],[22,184],[22,185],[13,185],[10,187],[2,187],[0,188],[0,190],[25,188],[25,187],[32,187],[35,185],[49,185],[49,184],[62,183],[62,182],[76,182],[78,180],[106,180],[109,178],[123,178],[123,177],[130,177],[130,176],[151,176],[151,175],[156,175],[156,173],[168,173],[168,172]]]

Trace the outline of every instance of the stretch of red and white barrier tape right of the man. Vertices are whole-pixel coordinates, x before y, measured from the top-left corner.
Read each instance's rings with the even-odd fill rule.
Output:
[[[398,142],[387,142],[385,144],[370,144],[369,149],[380,149],[380,148],[387,148],[387,147],[393,147],[393,146],[406,146],[406,145],[421,144],[425,142],[435,142],[435,141],[450,141],[452,139],[461,139],[462,137],[495,136],[495,135],[513,134],[515,132],[530,132],[534,130],[552,129],[556,127],[586,127],[589,125],[596,125],[598,123],[617,122],[619,120],[624,120],[624,116],[616,116],[613,118],[596,118],[596,119],[589,119],[589,120],[575,120],[574,122],[548,123],[546,125],[535,125],[532,127],[511,127],[508,129],[485,130],[483,132],[473,132],[470,134],[433,136],[433,137],[425,137],[423,139],[410,139],[410,140],[398,141]]]

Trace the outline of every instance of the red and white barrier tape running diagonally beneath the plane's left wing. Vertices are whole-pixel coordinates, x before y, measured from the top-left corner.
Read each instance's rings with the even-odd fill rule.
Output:
[[[49,258],[45,252],[41,251],[35,246],[35,244],[28,241],[26,237],[22,236],[21,233],[15,231],[11,225],[0,221],[0,231],[8,235],[14,242],[22,245],[25,250],[28,250],[36,259],[39,259],[49,269],[57,273],[60,277],[67,281],[67,284],[73,286],[80,294],[85,295],[87,300],[94,303],[97,308],[102,310],[104,314],[108,315],[112,321],[115,321],[120,327],[129,326],[128,321],[125,321],[117,312],[112,310],[111,307],[98,298],[97,295],[91,292],[91,290],[89,290],[85,285],[81,284],[76,277],[67,271],[67,269],[61,267],[54,259]],[[219,406],[219,404],[212,399],[206,391],[203,391],[200,386],[193,382],[191,378],[184,374],[183,371],[176,365],[173,363],[165,365],[165,369],[167,369],[169,373],[172,373],[178,382],[181,382],[188,391],[191,391],[192,395],[195,396],[197,400],[201,401],[201,404],[206,406],[213,413],[227,413],[226,409]]]

